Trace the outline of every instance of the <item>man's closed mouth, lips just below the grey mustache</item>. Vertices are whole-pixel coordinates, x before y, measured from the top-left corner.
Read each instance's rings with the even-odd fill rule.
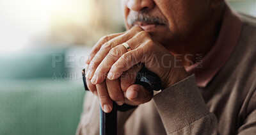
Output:
[[[135,22],[134,26],[140,26],[142,29],[144,29],[147,32],[153,32],[153,31],[156,31],[157,28],[164,26],[164,24],[159,24],[156,22]]]

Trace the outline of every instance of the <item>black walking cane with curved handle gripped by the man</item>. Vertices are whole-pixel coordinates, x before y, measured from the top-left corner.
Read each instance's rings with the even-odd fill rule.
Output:
[[[86,78],[83,69],[83,82],[84,89],[88,90],[86,84]],[[161,90],[161,80],[160,78],[154,74],[153,72],[147,70],[147,68],[143,67],[138,72],[135,84],[141,84],[149,90],[153,94],[153,90],[159,91]],[[116,135],[117,134],[117,107],[118,105],[113,102],[113,109],[110,113],[105,113],[100,107],[100,135]]]

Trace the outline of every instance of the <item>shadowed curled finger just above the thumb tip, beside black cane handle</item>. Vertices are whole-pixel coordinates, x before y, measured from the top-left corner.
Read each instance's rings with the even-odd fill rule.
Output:
[[[120,86],[123,92],[126,92],[127,88],[135,83],[137,73],[142,67],[143,65],[141,63],[134,65],[120,76]]]

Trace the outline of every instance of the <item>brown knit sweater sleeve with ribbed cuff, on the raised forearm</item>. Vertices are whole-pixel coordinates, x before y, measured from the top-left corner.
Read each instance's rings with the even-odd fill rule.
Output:
[[[218,134],[216,116],[198,91],[195,75],[153,97],[167,134]]]

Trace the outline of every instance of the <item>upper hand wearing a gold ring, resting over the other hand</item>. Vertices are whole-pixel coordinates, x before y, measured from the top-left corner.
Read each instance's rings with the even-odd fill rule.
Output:
[[[188,76],[186,70],[180,68],[182,67],[180,63],[175,61],[175,58],[162,45],[154,42],[150,35],[140,27],[132,28],[126,33],[108,36],[108,38],[111,38],[111,40],[105,42],[101,47],[100,44],[95,46],[93,53],[90,54],[92,59],[87,61],[89,66],[86,77],[92,79],[90,84],[96,84],[102,108],[112,107],[110,99],[115,100],[115,97],[123,98],[119,96],[121,95],[120,88],[106,90],[105,79],[108,72],[109,80],[118,81],[118,77],[133,65],[145,63],[145,67],[148,70],[151,70],[161,78],[164,88]],[[124,42],[130,45],[132,51],[127,52],[127,49],[120,45]],[[102,43],[102,40],[100,40],[100,43]],[[175,65],[179,65],[179,68],[175,68]],[[118,84],[118,82],[115,83]],[[131,86],[134,86],[132,89],[138,89],[136,91],[139,91],[139,93],[141,89],[143,90],[138,85]],[[95,91],[95,89],[92,91]],[[118,91],[118,96],[113,95],[113,91]],[[142,99],[147,98],[144,97]]]

